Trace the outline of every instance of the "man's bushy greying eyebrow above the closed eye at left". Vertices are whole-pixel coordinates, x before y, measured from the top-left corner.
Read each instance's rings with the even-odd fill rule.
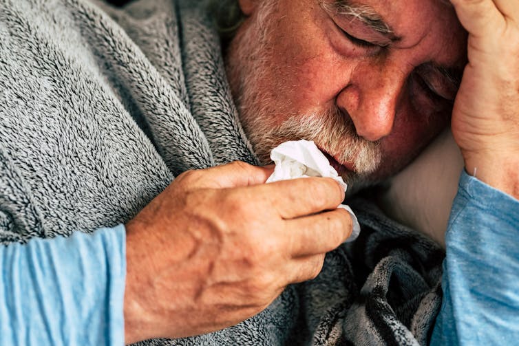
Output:
[[[400,41],[398,36],[394,35],[394,31],[388,23],[385,23],[381,15],[374,8],[354,3],[351,0],[334,0],[331,3],[322,2],[324,10],[333,12],[341,16],[350,16],[368,25],[369,28],[375,30],[384,36],[389,36],[391,41]]]

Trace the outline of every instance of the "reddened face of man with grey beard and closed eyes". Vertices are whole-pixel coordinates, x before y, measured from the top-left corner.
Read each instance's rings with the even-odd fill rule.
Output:
[[[388,177],[447,125],[466,35],[442,0],[240,0],[227,74],[262,162],[314,140],[348,184]]]

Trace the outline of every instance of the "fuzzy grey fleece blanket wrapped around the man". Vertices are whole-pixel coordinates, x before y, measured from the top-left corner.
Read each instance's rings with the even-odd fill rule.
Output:
[[[0,241],[128,221],[173,178],[256,163],[196,1],[0,0]],[[425,345],[443,252],[357,199],[361,237],[220,332],[146,345]],[[85,283],[79,283],[85,284]]]

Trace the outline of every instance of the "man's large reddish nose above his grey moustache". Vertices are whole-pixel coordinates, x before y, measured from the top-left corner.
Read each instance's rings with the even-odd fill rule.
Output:
[[[391,133],[404,85],[405,73],[394,66],[357,66],[337,106],[350,115],[359,136],[374,142]]]

